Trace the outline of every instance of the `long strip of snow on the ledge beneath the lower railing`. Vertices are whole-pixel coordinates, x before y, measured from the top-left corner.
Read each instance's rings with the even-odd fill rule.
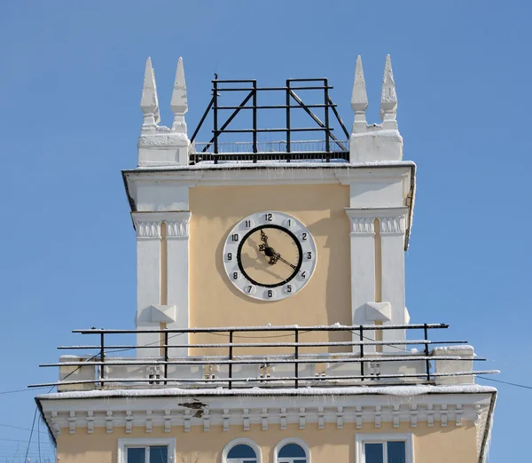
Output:
[[[426,394],[490,394],[497,388],[479,384],[456,384],[450,386],[377,386],[346,388],[160,388],[160,389],[113,389],[69,391],[36,396],[37,400],[111,398],[111,397],[165,397],[165,396],[421,396]]]

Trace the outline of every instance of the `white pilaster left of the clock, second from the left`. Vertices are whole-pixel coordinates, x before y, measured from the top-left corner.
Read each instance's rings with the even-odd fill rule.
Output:
[[[169,323],[169,329],[189,328],[189,224],[191,212],[165,214],[167,224],[168,250],[168,304],[176,305],[176,321]],[[189,335],[170,337],[168,344],[186,344]],[[188,349],[169,349],[170,357],[186,356]]]

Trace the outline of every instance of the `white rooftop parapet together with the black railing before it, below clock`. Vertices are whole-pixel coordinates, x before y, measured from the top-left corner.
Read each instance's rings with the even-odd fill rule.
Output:
[[[188,330],[74,330],[98,336],[93,345],[60,346],[94,354],[67,355],[59,363],[59,381],[30,387],[56,386],[58,391],[113,388],[312,388],[404,384],[473,383],[473,348],[465,341],[430,341],[429,330],[447,325],[404,326],[242,326]],[[382,332],[421,331],[420,339],[379,341]],[[395,330],[395,331],[394,331]],[[111,336],[160,334],[160,342],[142,346],[153,357],[112,357],[131,352],[130,344],[106,343]],[[310,334],[343,334],[351,341],[303,341]],[[226,337],[225,342],[172,340],[182,334]],[[255,337],[250,341],[250,337]],[[269,341],[282,337],[283,341]],[[288,339],[292,338],[292,339]],[[330,337],[329,337],[330,339]],[[245,341],[242,341],[245,340]],[[189,355],[172,357],[172,349]],[[205,355],[215,351],[216,355]],[[253,354],[246,354],[252,351]],[[200,352],[200,355],[196,355]],[[218,353],[224,352],[223,355]]]

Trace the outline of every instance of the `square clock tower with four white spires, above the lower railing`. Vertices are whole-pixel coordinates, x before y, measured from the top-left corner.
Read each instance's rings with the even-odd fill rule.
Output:
[[[224,90],[235,89],[235,82],[213,84],[223,98]],[[260,95],[254,81],[236,84],[253,92],[252,98]],[[330,91],[328,84],[321,86]],[[317,82],[292,81],[286,88],[294,94],[322,90]],[[156,125],[159,106],[148,60],[138,167],[123,172],[137,232],[137,328],[408,323],[403,255],[415,165],[403,161],[389,57],[380,107],[383,123],[368,126],[365,121],[360,58],[351,106],[355,122],[347,142],[337,142],[332,127],[325,130],[328,145],[337,150],[321,153],[324,161],[329,156],[325,162],[316,159],[317,153],[295,151],[313,146],[294,141],[293,127],[285,131],[292,137],[289,162],[276,161],[278,153],[255,162],[225,153],[236,145],[221,141],[231,130],[215,129],[215,141],[194,143],[191,150],[184,122],[183,61],[172,96],[174,123],[167,129]],[[255,105],[253,111],[261,109]],[[199,148],[205,146],[210,150],[202,152]],[[261,148],[256,141],[250,147],[252,153]],[[196,153],[189,155],[191,151]],[[405,337],[400,329],[376,335],[384,341]],[[139,356],[147,354],[141,346],[158,341],[158,334],[137,336]],[[171,342],[183,344],[183,339]]]

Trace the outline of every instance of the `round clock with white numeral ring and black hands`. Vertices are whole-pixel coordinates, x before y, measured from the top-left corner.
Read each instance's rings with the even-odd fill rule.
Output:
[[[278,211],[242,219],[223,247],[223,265],[231,283],[263,301],[279,301],[300,291],[312,276],[316,260],[309,230]]]

